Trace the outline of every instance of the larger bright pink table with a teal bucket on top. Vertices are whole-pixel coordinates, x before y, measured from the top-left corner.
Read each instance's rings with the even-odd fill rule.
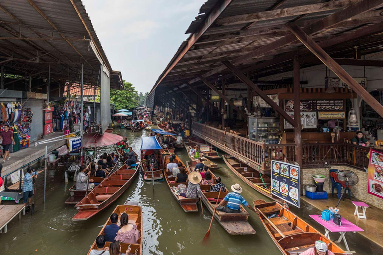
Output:
[[[346,253],[355,253],[355,251],[350,251],[349,245],[347,244],[347,241],[346,241],[345,234],[346,232],[356,233],[356,231],[364,231],[363,229],[361,229],[357,225],[352,224],[351,222],[349,222],[343,217],[341,218],[342,226],[338,226],[332,221],[329,222],[329,221],[322,220],[321,215],[310,215],[310,217],[313,218],[314,221],[318,222],[320,225],[322,225],[325,228],[325,231],[326,231],[325,237],[330,239],[330,236],[329,236],[330,232],[340,233],[341,236],[339,237],[337,241],[335,241],[335,243],[340,243],[343,240],[345,242],[345,246],[347,249]]]

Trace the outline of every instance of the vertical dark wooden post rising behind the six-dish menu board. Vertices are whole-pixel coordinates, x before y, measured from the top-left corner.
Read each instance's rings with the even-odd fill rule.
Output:
[[[294,106],[300,106],[300,75],[299,75],[299,60],[298,54],[294,56],[294,70],[293,70],[293,82],[294,82]],[[303,175],[302,175],[302,135],[301,135],[301,108],[294,107],[294,120],[297,123],[297,126],[294,128],[294,140],[295,140],[295,161],[299,164],[301,173],[300,173],[300,191],[301,195],[303,194]]]

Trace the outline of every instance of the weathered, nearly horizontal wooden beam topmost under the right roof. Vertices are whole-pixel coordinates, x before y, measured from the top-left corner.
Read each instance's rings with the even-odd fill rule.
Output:
[[[352,4],[357,3],[359,0],[338,0],[329,1],[324,3],[314,3],[307,5],[300,5],[288,7],[284,9],[262,11],[256,13],[240,14],[224,18],[219,18],[216,21],[217,26],[242,24],[248,22],[256,22],[267,19],[284,18],[302,14],[311,14],[321,11],[342,9]]]

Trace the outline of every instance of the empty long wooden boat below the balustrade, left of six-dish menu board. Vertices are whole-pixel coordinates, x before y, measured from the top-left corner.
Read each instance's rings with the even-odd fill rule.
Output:
[[[261,174],[257,169],[250,167],[231,155],[223,155],[223,161],[225,161],[230,170],[247,185],[259,193],[274,199],[277,202],[283,203],[282,199],[271,194],[271,178],[269,176]]]

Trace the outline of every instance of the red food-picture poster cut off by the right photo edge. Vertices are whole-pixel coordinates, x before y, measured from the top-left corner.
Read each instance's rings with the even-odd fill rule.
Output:
[[[383,198],[383,153],[371,149],[368,169],[369,194]]]

